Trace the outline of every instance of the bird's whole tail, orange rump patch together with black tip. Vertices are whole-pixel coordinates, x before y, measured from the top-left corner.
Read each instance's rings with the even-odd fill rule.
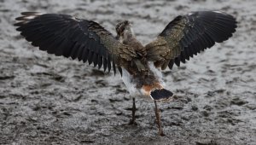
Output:
[[[146,96],[150,96],[154,101],[166,101],[170,100],[173,93],[169,90],[164,89],[160,83],[152,85],[143,85],[143,93]]]

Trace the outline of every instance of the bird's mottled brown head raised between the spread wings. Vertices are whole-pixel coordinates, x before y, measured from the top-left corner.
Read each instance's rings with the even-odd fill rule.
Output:
[[[119,22],[119,24],[115,26],[115,30],[117,32],[117,38],[122,43],[124,41],[128,41],[129,38],[134,37],[134,33],[131,28],[131,23],[128,20]]]

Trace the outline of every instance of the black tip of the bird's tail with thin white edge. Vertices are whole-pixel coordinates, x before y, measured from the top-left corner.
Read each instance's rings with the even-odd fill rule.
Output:
[[[161,90],[154,90],[150,93],[150,96],[155,101],[163,101],[168,100],[170,97],[173,96],[173,93],[169,90],[161,89]]]

